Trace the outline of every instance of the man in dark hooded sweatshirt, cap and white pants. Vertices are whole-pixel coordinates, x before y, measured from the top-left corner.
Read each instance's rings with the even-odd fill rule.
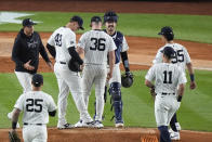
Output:
[[[12,60],[15,62],[15,75],[23,87],[23,92],[31,91],[31,77],[37,73],[39,53],[53,69],[53,65],[45,52],[41,38],[34,31],[34,23],[30,18],[23,21],[23,28],[17,34],[12,50]],[[12,112],[8,114],[11,119]]]

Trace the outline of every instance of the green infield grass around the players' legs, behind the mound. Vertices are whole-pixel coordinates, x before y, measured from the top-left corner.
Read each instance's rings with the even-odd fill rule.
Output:
[[[54,74],[43,73],[43,91],[52,94],[55,102],[57,100],[57,82]],[[124,125],[129,127],[156,127],[154,116],[154,101],[148,88],[144,86],[146,70],[134,72],[134,83],[131,88],[122,88],[123,118]],[[189,90],[188,83],[183,98],[182,105],[177,112],[178,120],[183,129],[212,131],[212,74],[207,70],[196,70],[198,88]],[[13,108],[15,101],[22,93],[22,88],[14,74],[0,74],[0,128],[11,127],[6,114]],[[114,126],[110,121],[109,95],[105,105],[105,126]],[[89,112],[94,115],[94,91],[90,98]],[[67,120],[75,124],[78,121],[79,114],[76,109],[71,95],[68,98]],[[21,121],[21,118],[19,118]],[[57,117],[50,118],[49,126],[56,126]]]

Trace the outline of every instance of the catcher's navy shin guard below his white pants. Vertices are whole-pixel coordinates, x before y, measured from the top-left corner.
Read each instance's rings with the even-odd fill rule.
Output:
[[[115,111],[115,122],[123,122],[122,120],[122,100],[121,100],[121,83],[112,82],[109,88],[111,95],[111,108]]]

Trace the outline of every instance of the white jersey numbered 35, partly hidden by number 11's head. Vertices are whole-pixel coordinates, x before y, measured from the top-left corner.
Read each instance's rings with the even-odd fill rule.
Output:
[[[183,47],[180,43],[167,43],[162,48],[158,50],[158,53],[156,54],[156,59],[153,61],[154,64],[162,63],[162,50],[164,47],[172,47],[175,51],[174,57],[172,59],[173,64],[177,64],[177,66],[181,66],[183,70],[185,72],[186,64],[190,63],[190,56],[186,50],[185,47]]]

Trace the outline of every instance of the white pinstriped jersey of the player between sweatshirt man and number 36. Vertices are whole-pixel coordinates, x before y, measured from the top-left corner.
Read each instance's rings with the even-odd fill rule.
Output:
[[[56,61],[68,62],[71,56],[67,48],[76,47],[76,34],[70,28],[59,27],[52,34],[48,43],[55,47]]]

